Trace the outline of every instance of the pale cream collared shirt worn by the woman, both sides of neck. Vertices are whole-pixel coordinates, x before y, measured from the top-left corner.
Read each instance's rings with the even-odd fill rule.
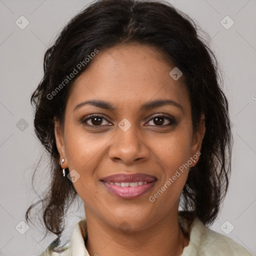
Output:
[[[252,256],[243,246],[209,229],[197,217],[191,220],[179,212],[178,222],[182,231],[189,235],[189,243],[180,256]],[[39,256],[90,256],[84,243],[86,237],[86,218],[83,218],[75,225],[67,243],[57,248],[56,238]]]

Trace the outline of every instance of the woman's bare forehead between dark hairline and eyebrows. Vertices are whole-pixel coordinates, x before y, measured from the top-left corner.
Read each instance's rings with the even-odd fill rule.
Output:
[[[72,85],[68,106],[101,99],[121,110],[168,98],[189,107],[182,76],[174,80],[169,75],[174,66],[164,59],[156,48],[145,45],[117,45],[99,50]]]

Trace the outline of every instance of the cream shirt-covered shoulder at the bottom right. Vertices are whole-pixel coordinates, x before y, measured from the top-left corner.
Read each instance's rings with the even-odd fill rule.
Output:
[[[191,223],[190,241],[186,250],[185,248],[182,256],[252,256],[245,247],[230,237],[206,227],[197,217]],[[188,251],[189,254],[186,254]]]

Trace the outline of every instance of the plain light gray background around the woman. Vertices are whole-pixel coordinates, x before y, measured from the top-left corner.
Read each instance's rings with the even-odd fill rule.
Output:
[[[24,229],[20,221],[24,220],[25,210],[38,199],[31,187],[31,176],[43,152],[33,133],[29,99],[42,78],[45,50],[61,27],[88,2],[0,0],[0,255],[38,255],[55,238],[49,235],[40,240],[43,231],[40,222],[36,226],[29,222],[29,229],[20,233]],[[223,70],[224,91],[230,105],[234,136],[232,174],[220,215],[210,228],[228,235],[256,255],[256,2],[170,2],[194,18],[211,37],[211,48]],[[29,21],[24,29],[15,23],[21,15]],[[226,15],[234,21],[229,29],[220,22]],[[222,22],[231,24],[230,20]],[[44,156],[35,182],[38,193],[48,180]],[[74,224],[84,216],[82,201],[78,202],[78,209],[73,208],[72,213],[70,209],[63,239],[68,239]]]

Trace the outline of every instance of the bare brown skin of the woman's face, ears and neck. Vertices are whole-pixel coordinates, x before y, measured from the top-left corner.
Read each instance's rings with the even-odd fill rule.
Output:
[[[204,116],[193,132],[188,93],[182,78],[169,75],[173,67],[152,46],[129,44],[100,50],[70,90],[63,125],[55,122],[57,149],[60,159],[65,159],[62,167],[80,175],[73,185],[84,202],[85,245],[90,255],[180,255],[189,242],[178,224],[179,195],[189,169],[154,202],[148,199],[200,151],[205,132]],[[73,110],[89,99],[108,101],[116,110],[89,104]],[[139,110],[154,99],[171,99],[182,109],[164,105]],[[164,119],[157,125],[153,117],[162,113],[176,123]],[[81,120],[89,114],[102,114],[106,120],[95,124],[89,119],[86,126]],[[125,132],[118,127],[123,118],[131,123]],[[89,126],[93,124],[96,128]],[[108,175],[136,172],[157,177],[155,185],[138,198],[119,198],[100,182]],[[126,232],[118,228],[123,221]]]

